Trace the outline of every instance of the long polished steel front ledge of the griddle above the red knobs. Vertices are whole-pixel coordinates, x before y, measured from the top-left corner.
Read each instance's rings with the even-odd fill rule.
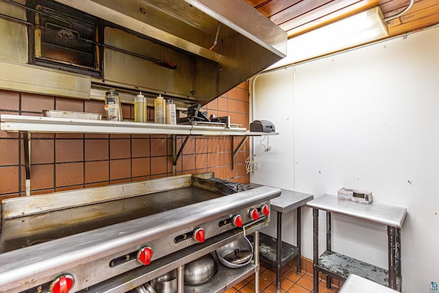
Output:
[[[281,189],[259,187],[3,253],[0,255],[0,288],[11,290],[22,285],[19,280],[56,274],[280,194]]]

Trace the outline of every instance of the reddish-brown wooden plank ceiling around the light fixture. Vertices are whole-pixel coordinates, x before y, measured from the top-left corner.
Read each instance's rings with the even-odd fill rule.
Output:
[[[246,0],[288,34],[288,38],[379,5],[384,17],[404,10],[410,0]],[[387,22],[389,37],[439,23],[438,0],[416,0],[410,10]]]

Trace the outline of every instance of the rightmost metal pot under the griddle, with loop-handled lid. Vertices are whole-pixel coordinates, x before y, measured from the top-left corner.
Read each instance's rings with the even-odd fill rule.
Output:
[[[218,248],[215,253],[224,266],[241,268],[252,261],[253,246],[246,237],[242,237]]]

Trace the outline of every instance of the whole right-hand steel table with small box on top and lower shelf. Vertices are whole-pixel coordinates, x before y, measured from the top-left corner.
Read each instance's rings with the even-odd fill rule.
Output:
[[[401,226],[407,209],[387,204],[361,204],[338,200],[337,196],[324,194],[307,206],[313,209],[313,263],[314,292],[318,293],[318,272],[327,274],[327,286],[331,288],[331,277],[346,280],[349,274],[358,274],[381,285],[401,292]],[[327,211],[327,250],[318,257],[318,210]],[[372,266],[357,259],[331,251],[331,213],[387,226],[389,270]],[[346,269],[348,267],[348,269]]]

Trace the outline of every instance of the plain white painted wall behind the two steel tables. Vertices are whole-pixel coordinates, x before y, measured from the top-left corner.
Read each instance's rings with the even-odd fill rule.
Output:
[[[428,292],[439,281],[439,27],[263,73],[252,94],[254,119],[281,132],[252,183],[314,196],[366,189],[374,202],[406,207],[403,292]],[[283,221],[292,244],[294,216]],[[388,268],[385,226],[333,218],[333,250]],[[302,255],[312,259],[311,209],[302,223]],[[275,235],[275,224],[265,232]]]

